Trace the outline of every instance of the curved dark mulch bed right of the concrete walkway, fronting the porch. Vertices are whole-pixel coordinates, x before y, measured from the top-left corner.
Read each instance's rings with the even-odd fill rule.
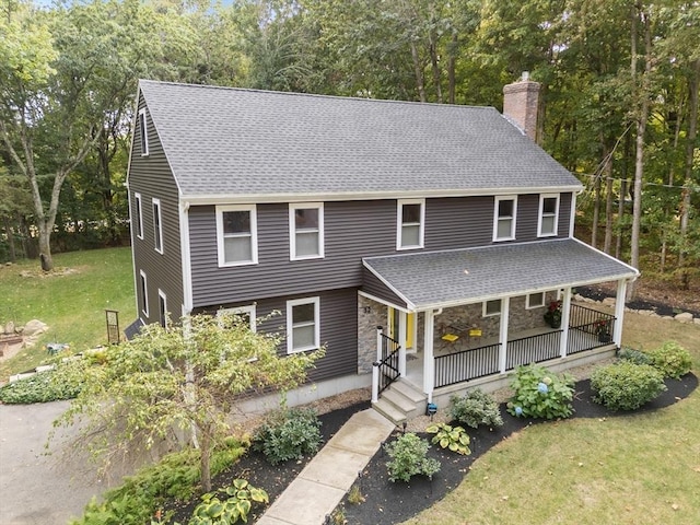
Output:
[[[698,378],[693,374],[686,374],[679,381],[666,380],[665,383],[668,389],[641,409],[633,412],[614,412],[603,405],[593,402],[591,382],[588,380],[580,381],[575,384],[573,401],[575,411],[572,417],[629,417],[634,413],[667,407],[688,397],[698,386]],[[377,452],[363,470],[362,477],[359,478],[360,489],[365,501],[360,504],[350,503],[346,495],[341,502],[347,524],[392,525],[415,516],[456,488],[468,472],[470,465],[493,445],[529,424],[542,422],[515,418],[505,411],[504,404],[501,405],[501,415],[504,423],[501,428],[493,430],[467,428],[467,433],[471,439],[471,454],[468,456],[460,456],[445,452],[440,447],[431,446],[429,456],[439,459],[442,464],[440,471],[433,476],[432,481],[423,476],[413,478],[410,483],[389,481],[385,465],[388,456],[382,451]],[[399,434],[400,432],[397,431],[389,439],[395,439]],[[419,433],[419,435],[425,439],[432,438],[432,434]]]

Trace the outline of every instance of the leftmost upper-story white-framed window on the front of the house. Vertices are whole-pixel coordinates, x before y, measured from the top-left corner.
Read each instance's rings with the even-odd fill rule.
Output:
[[[217,207],[219,266],[255,265],[258,261],[255,205]]]

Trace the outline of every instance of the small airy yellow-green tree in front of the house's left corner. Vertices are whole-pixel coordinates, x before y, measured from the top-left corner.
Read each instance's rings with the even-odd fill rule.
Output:
[[[318,350],[280,358],[279,343],[278,335],[253,332],[238,316],[148,325],[132,341],[112,348],[103,365],[77,362],[83,389],[55,425],[88,416],[79,439],[107,458],[105,465],[119,453],[149,450],[177,429],[190,432],[208,492],[211,451],[231,431],[226,416],[237,396],[294,388],[323,355]]]

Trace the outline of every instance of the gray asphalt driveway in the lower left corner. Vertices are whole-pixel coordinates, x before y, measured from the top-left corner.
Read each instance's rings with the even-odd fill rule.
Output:
[[[48,451],[45,447],[52,421],[68,406],[69,401],[0,405],[1,525],[66,524],[108,488],[86,454],[79,451],[70,459],[65,454],[74,452],[62,439],[73,435],[75,428],[60,429],[58,440]]]

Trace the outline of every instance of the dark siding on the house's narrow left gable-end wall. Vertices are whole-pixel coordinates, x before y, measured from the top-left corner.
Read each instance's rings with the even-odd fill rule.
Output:
[[[139,101],[139,109],[143,107],[143,101]],[[182,315],[183,304],[183,271],[182,250],[179,242],[178,195],[177,186],[165,159],[163,147],[147,112],[149,155],[141,156],[139,119],[133,131],[137,138],[131,152],[131,166],[129,171],[129,199],[133,209],[136,192],[141,194],[141,208],[143,213],[143,240],[131,232],[131,246],[133,249],[135,273],[137,282],[140,270],[145,272],[149,296],[149,317],[143,318],[139,311],[138,316],[145,323],[159,320],[159,294],[161,289],[167,300],[167,310],[174,319]],[[153,230],[153,202],[156,198],[161,201],[161,218],[163,226],[163,254],[155,250],[155,237]],[[141,304],[141,291],[138,304]]]

